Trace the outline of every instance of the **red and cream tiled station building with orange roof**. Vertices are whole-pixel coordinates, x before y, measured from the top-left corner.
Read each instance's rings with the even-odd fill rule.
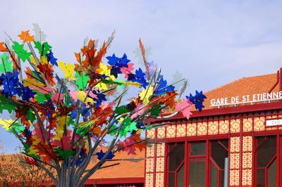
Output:
[[[145,186],[282,186],[282,71],[205,93],[206,109],[147,131]]]

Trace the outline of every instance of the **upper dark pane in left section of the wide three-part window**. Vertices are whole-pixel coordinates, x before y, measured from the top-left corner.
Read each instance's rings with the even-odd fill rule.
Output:
[[[175,144],[175,143],[173,143]],[[184,160],[184,143],[177,143],[169,153],[169,171],[175,172]]]

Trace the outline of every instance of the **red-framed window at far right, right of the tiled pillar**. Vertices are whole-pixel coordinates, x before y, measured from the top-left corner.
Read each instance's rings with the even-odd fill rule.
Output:
[[[257,187],[276,186],[276,136],[256,138]]]

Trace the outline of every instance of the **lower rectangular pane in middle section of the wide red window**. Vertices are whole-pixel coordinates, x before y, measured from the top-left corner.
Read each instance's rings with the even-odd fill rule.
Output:
[[[206,164],[205,161],[190,162],[189,169],[189,186],[190,187],[204,187],[206,179]]]

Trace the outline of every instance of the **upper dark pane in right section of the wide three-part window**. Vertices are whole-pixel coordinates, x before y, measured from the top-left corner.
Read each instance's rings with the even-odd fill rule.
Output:
[[[223,148],[219,141],[212,141],[212,159],[221,169],[224,169],[224,160],[228,157],[228,151]]]

